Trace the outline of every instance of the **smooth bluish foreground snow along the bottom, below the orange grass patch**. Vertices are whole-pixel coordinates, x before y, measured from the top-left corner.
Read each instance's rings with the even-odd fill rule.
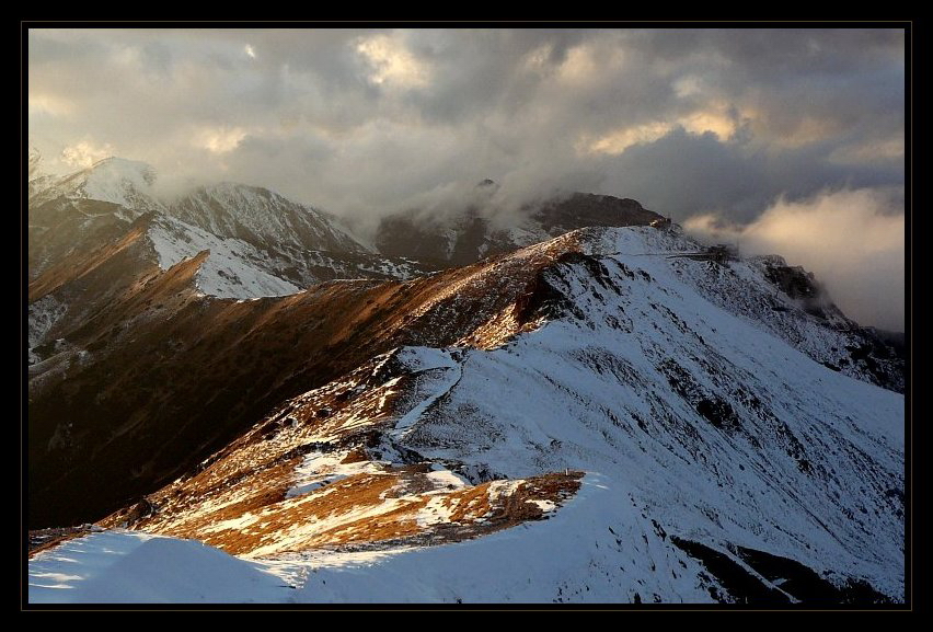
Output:
[[[686,567],[678,564],[678,550],[631,502],[608,502],[611,495],[608,481],[590,474],[549,520],[441,547],[307,559],[247,561],[192,540],[93,533],[36,555],[30,601],[627,602],[636,594],[712,601],[695,586],[699,564],[686,556]],[[652,570],[658,565],[676,570]]]

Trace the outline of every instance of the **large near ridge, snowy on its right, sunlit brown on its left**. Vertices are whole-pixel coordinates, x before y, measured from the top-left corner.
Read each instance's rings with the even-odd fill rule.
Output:
[[[36,555],[31,599],[178,598],[148,591],[136,552],[157,540],[138,531],[240,555],[158,540],[222,564],[203,600],[221,581],[267,601],[905,599],[905,401],[877,386],[880,358],[840,361],[859,331],[676,228],[476,264],[412,318],[469,310],[485,274],[531,261],[526,291],[457,344],[370,358],[104,522],[136,531]],[[93,582],[61,579],[105,547]]]

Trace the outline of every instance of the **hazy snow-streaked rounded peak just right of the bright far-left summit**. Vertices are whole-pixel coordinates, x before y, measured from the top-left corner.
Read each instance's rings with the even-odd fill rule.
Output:
[[[218,237],[256,248],[300,251],[364,251],[335,217],[258,186],[224,182],[177,199],[169,215]]]

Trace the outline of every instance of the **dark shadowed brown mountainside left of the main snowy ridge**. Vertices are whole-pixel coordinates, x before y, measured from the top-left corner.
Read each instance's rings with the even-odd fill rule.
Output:
[[[90,356],[58,358],[32,380],[30,526],[100,518],[377,354],[456,343],[514,309],[574,244],[566,235],[411,281],[331,281],[242,302],[196,292],[204,253],[136,278],[67,334]],[[97,283],[104,268],[79,281]]]

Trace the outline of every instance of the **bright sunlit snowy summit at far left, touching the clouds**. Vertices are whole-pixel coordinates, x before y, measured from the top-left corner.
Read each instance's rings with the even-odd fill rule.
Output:
[[[36,199],[31,199],[31,203],[66,197],[116,204],[135,215],[163,210],[164,205],[152,191],[156,176],[156,170],[145,162],[106,158],[88,169],[50,182],[37,192]]]

